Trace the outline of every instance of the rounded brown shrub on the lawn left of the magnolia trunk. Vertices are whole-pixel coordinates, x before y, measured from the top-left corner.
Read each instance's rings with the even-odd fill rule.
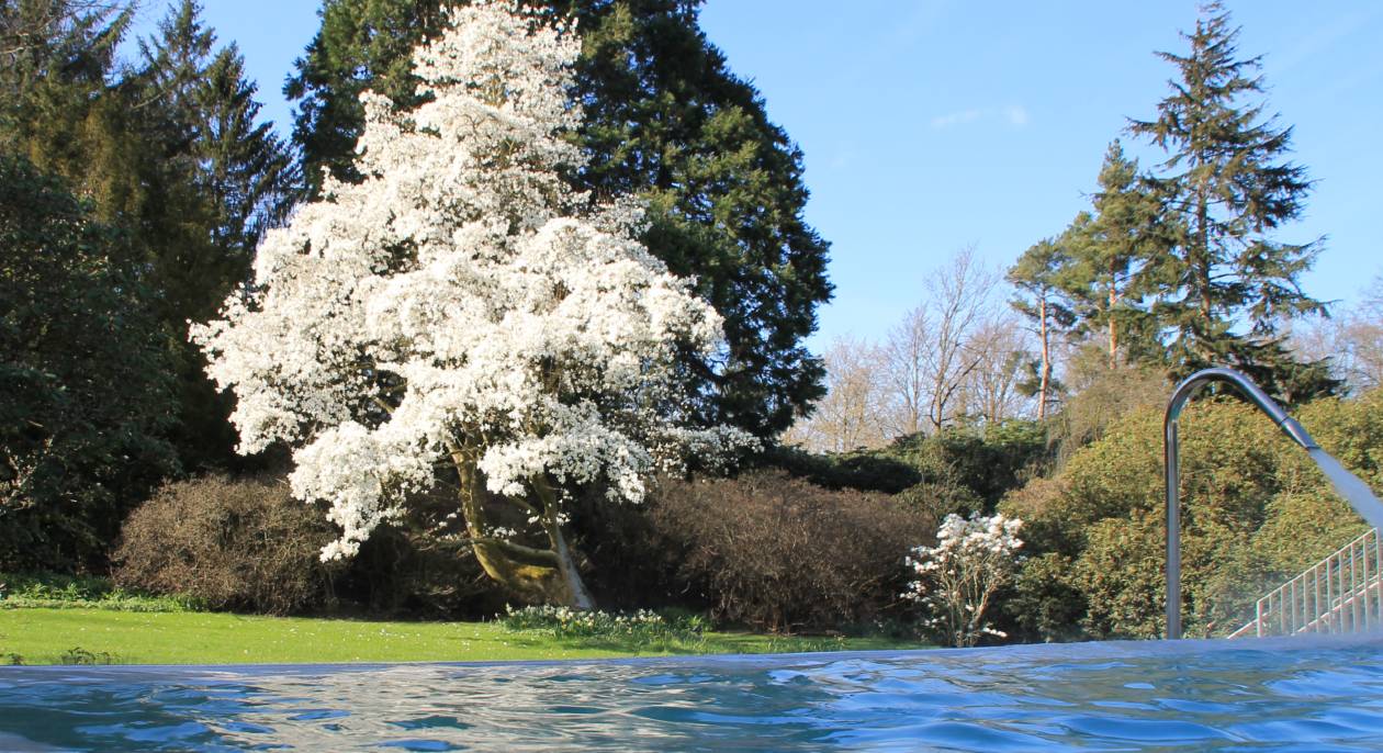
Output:
[[[286,615],[319,605],[325,516],[267,479],[171,483],[136,509],[115,552],[115,583],[187,594],[213,609]]]

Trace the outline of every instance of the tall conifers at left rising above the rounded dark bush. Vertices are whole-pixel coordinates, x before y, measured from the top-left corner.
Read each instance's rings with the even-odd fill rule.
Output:
[[[202,374],[187,323],[210,317],[248,278],[264,227],[295,195],[288,147],[259,123],[235,47],[216,50],[198,6],[176,4],[137,66],[115,47],[119,3],[0,6],[0,144],[64,177],[126,237],[177,375],[169,426],[184,465],[234,462],[227,399]],[[115,10],[108,10],[115,8]]]

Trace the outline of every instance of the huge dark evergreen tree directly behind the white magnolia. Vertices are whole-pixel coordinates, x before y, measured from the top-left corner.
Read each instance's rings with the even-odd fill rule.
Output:
[[[553,0],[577,18],[584,53],[596,197],[635,192],[650,206],[644,241],[726,320],[714,363],[687,357],[701,419],[765,439],[824,392],[824,370],[802,341],[830,299],[827,244],[804,221],[801,152],[769,122],[755,89],[736,78],[697,26],[696,0]],[[444,22],[436,0],[326,0],[322,26],[285,91],[299,101],[295,140],[310,185],[343,180],[360,133],[358,94],[412,102],[409,51]]]

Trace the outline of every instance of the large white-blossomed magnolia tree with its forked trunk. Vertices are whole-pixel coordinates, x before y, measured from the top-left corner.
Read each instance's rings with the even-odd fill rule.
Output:
[[[744,442],[682,424],[675,353],[714,347],[721,320],[636,241],[632,202],[564,179],[584,159],[575,36],[512,3],[451,21],[414,57],[429,101],[366,94],[364,180],[328,179],[268,233],[252,292],[192,338],[235,393],[239,450],[288,443],[295,494],[331,505],[342,536],[324,559],[354,554],[440,465],[485,573],[591,608],[570,493],[639,501],[660,466]],[[503,505],[531,530],[495,525]]]

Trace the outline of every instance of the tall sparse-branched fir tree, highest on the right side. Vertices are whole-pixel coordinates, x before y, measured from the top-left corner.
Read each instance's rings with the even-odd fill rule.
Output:
[[[1253,101],[1265,91],[1261,58],[1238,57],[1238,36],[1218,3],[1203,6],[1182,35],[1191,50],[1158,53],[1177,69],[1158,116],[1129,126],[1169,155],[1151,180],[1178,231],[1149,270],[1159,280],[1155,313],[1173,331],[1177,371],[1234,365],[1301,399],[1333,382],[1322,364],[1292,360],[1278,323],[1325,313],[1300,288],[1321,242],[1281,242],[1272,233],[1301,215],[1311,181],[1286,161],[1292,129]]]

